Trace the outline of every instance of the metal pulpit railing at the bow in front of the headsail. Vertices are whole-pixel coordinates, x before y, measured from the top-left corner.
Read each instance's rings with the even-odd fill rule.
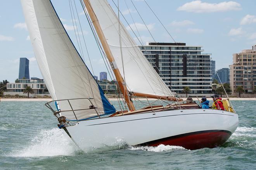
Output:
[[[71,101],[71,100],[83,100],[83,99],[86,99],[86,100],[89,100],[89,101],[90,101],[90,104],[91,104],[91,105],[89,106],[89,108],[86,108],[86,109],[73,109],[73,107],[72,107],[70,101]],[[74,116],[76,117],[75,111],[94,109],[95,112],[97,113],[97,115],[98,115],[99,118],[100,118],[100,115],[99,115],[99,113],[98,113],[97,110],[96,110],[97,107],[95,107],[95,106],[92,104],[91,99],[93,99],[93,98],[78,98],[78,99],[52,100],[52,101],[50,101],[50,102],[47,102],[47,103],[45,104],[45,106],[48,107],[50,110],[52,110],[52,112],[54,113],[54,116],[56,116],[57,114],[60,115],[61,112],[73,112]],[[52,108],[52,106],[51,106],[50,104],[52,104],[52,102],[54,102],[54,105],[56,105],[55,102],[59,102],[59,101],[67,101],[67,103],[69,104],[71,110],[61,110],[61,109],[59,109],[59,110],[55,111],[55,110]],[[57,104],[57,105],[58,105],[58,104]],[[57,109],[58,109],[58,108],[57,108]],[[56,116],[56,117],[58,117],[58,116]],[[77,117],[76,117],[76,121],[78,121]]]

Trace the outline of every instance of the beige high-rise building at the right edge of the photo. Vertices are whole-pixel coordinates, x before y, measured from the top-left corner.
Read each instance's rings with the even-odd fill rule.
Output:
[[[230,65],[230,87],[233,93],[242,86],[246,93],[253,92],[256,86],[256,45],[233,54],[233,65]]]

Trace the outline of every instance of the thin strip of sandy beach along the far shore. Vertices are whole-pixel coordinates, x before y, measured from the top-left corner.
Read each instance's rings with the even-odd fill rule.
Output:
[[[187,98],[181,98],[183,100],[186,100]],[[192,99],[194,101],[198,101],[197,98],[193,98]],[[222,98],[222,99],[227,99],[227,98]],[[234,98],[229,98],[231,101],[232,100],[256,100],[256,98],[238,98],[238,97],[234,97]],[[48,101],[51,101],[52,99],[50,98],[1,98],[0,101],[1,102],[40,102],[40,101],[45,101],[45,102],[48,102]],[[118,98],[109,98],[110,101],[118,101]],[[147,99],[139,99],[139,100],[142,100],[142,101],[145,101]],[[156,99],[151,99],[151,100],[156,100]],[[200,98],[199,98],[200,100]],[[208,98],[208,100],[212,100],[211,98]]]

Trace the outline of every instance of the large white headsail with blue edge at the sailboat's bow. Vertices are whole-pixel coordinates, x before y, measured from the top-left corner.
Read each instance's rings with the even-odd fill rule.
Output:
[[[88,99],[70,100],[74,110],[88,109],[90,105],[98,108],[97,112],[76,111],[78,119],[115,112],[74,48],[50,0],[21,2],[35,57],[52,98],[93,98],[92,104]],[[59,102],[59,109],[71,107],[65,100]],[[62,112],[62,116],[75,119],[73,112]]]

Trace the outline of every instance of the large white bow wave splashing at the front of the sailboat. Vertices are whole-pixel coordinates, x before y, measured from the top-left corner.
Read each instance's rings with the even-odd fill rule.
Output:
[[[10,156],[17,157],[40,157],[74,155],[78,151],[77,146],[61,129],[40,130],[39,133],[29,141],[29,145],[21,150],[13,150]]]

